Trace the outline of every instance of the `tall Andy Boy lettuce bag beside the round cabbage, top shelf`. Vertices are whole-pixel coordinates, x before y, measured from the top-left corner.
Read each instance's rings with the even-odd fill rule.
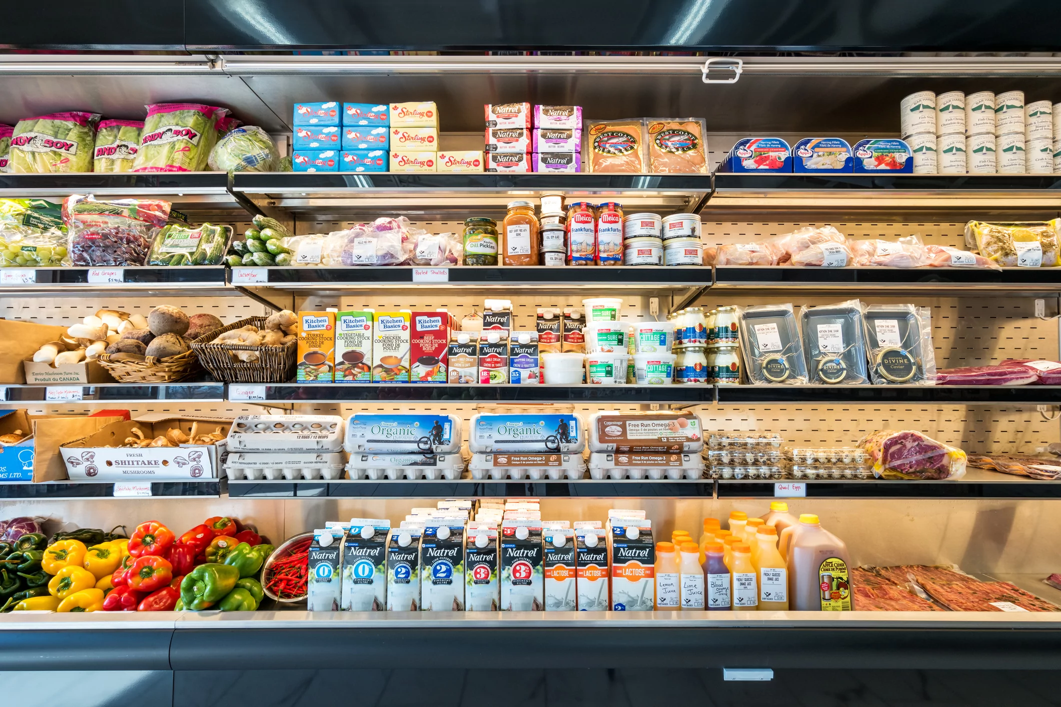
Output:
[[[218,142],[218,121],[227,108],[197,103],[147,106],[134,172],[202,172]]]

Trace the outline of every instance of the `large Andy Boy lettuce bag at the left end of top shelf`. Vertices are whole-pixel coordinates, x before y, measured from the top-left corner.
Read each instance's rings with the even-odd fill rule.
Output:
[[[51,113],[23,118],[11,138],[15,174],[91,172],[99,113]]]

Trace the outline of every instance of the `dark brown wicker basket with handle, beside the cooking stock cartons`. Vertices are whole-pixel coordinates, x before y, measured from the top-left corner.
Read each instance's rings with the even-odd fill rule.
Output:
[[[241,319],[222,329],[215,329],[192,341],[192,351],[211,375],[224,383],[286,383],[295,376],[298,360],[298,343],[291,341],[281,347],[248,347],[240,344],[210,343],[225,332],[254,324],[265,326],[266,317]],[[233,351],[255,351],[258,360],[248,364],[232,357]]]

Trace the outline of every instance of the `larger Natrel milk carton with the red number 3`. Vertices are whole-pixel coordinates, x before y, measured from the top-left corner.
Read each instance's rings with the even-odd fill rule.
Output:
[[[501,526],[501,611],[542,611],[545,598],[541,563],[541,520],[504,520]]]

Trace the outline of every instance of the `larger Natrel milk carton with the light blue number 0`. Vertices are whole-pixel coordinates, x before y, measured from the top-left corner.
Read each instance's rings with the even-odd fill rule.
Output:
[[[387,605],[386,549],[390,522],[352,518],[343,544],[345,612],[382,612]]]

